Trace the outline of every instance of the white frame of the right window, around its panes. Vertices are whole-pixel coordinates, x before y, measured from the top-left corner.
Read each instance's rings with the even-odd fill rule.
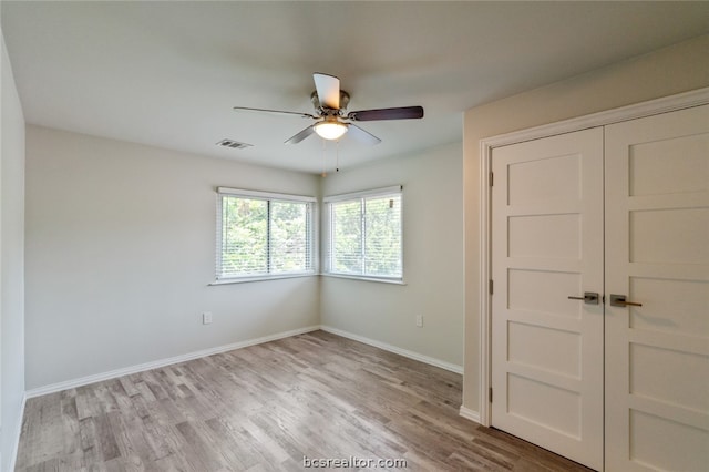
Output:
[[[401,275],[400,276],[383,276],[383,275],[369,275],[369,274],[353,274],[353,273],[341,273],[341,271],[336,271],[332,268],[332,256],[333,256],[333,252],[332,252],[332,238],[333,238],[333,233],[332,233],[332,204],[336,203],[343,203],[343,202],[356,202],[356,201],[363,201],[367,198],[376,198],[376,197],[383,197],[387,195],[398,195],[399,196],[399,226],[400,226],[400,240],[401,240],[401,247],[400,247],[400,260],[401,260]],[[322,205],[323,205],[323,214],[325,214],[325,228],[326,228],[326,235],[325,235],[325,244],[326,244],[326,248],[325,248],[325,256],[323,256],[323,264],[322,264],[322,275],[323,276],[328,276],[328,277],[338,277],[338,278],[350,278],[350,279],[358,279],[358,280],[368,280],[368,281],[378,281],[378,283],[386,283],[386,284],[398,284],[398,285],[405,285],[404,283],[404,235],[403,235],[403,228],[404,228],[404,222],[403,222],[403,186],[402,185],[394,185],[394,186],[389,186],[389,187],[382,187],[382,188],[373,188],[373,189],[369,189],[369,191],[361,191],[361,192],[353,192],[353,193],[347,193],[347,194],[339,194],[339,195],[331,195],[331,196],[326,196],[325,198],[322,198]],[[363,215],[360,215],[360,225],[364,224],[364,219],[363,219]],[[364,245],[366,244],[366,236],[362,236],[361,239],[361,244]]]

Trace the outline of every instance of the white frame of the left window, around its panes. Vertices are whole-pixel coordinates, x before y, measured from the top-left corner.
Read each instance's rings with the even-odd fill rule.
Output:
[[[268,203],[268,207],[270,211],[271,202],[281,202],[281,203],[298,203],[306,205],[306,226],[307,226],[307,242],[306,242],[306,250],[307,250],[307,260],[305,270],[291,270],[291,271],[277,271],[273,273],[271,267],[267,267],[267,273],[261,274],[249,274],[249,275],[224,275],[222,269],[222,259],[224,252],[224,240],[223,240],[223,223],[224,223],[224,197],[237,197],[237,198],[247,198],[247,199],[260,199],[266,201]],[[292,194],[282,194],[275,192],[263,192],[263,191],[250,191],[250,189],[242,189],[242,188],[232,188],[232,187],[217,187],[216,188],[216,245],[215,245],[215,281],[209,285],[224,285],[224,284],[240,284],[248,281],[258,281],[258,280],[275,280],[282,278],[295,278],[295,277],[310,277],[318,275],[318,199],[314,196],[306,195],[292,195]],[[270,213],[267,214],[267,233],[266,233],[266,246],[268,252],[270,252],[270,243],[271,243],[271,233],[270,233]],[[267,263],[270,265],[270,260]]]

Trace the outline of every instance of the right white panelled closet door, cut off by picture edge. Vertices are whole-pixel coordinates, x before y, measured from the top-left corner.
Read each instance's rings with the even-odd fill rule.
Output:
[[[605,137],[606,469],[708,471],[709,107]]]

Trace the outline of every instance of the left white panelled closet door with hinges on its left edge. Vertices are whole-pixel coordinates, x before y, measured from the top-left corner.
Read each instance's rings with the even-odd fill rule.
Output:
[[[603,129],[492,156],[492,425],[603,468]]]

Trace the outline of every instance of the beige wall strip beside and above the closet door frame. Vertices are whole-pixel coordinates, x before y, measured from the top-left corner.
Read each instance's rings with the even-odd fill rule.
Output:
[[[472,411],[480,408],[480,140],[706,86],[709,86],[709,35],[465,112],[464,408]]]

